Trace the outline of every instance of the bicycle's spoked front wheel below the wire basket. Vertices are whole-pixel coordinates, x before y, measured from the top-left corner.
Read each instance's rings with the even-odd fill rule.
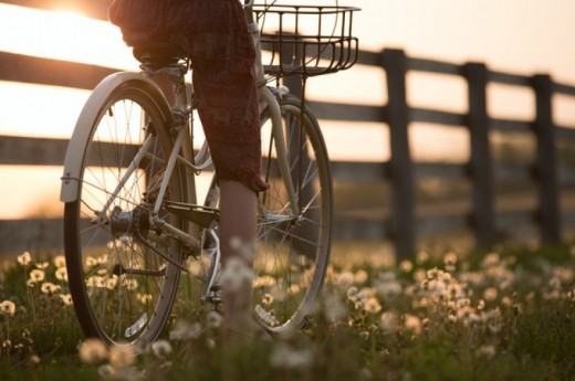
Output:
[[[305,322],[322,289],[333,205],[330,161],[317,120],[309,109],[302,112],[296,97],[285,97],[280,107],[285,155],[278,152],[271,116],[262,115],[262,172],[270,188],[259,198],[253,284],[255,318],[278,335]],[[280,156],[289,173],[281,170]]]

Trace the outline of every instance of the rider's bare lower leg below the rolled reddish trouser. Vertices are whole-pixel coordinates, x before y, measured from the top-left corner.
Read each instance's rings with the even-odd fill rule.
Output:
[[[241,260],[240,263],[251,269],[255,242],[257,194],[239,181],[220,181],[220,245],[224,272],[226,266],[231,264],[230,260]],[[226,328],[240,332],[249,330],[253,325],[250,308],[251,282],[242,282],[239,287],[226,287],[226,283],[222,286],[226,298]]]

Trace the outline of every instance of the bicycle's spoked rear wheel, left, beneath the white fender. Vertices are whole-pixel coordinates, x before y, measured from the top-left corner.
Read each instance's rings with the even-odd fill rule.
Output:
[[[88,337],[107,345],[149,342],[168,319],[184,256],[180,243],[149,226],[172,148],[169,107],[146,82],[127,81],[103,102],[91,97],[85,109],[98,112],[90,125],[76,126],[90,128],[90,138],[75,148],[79,194],[64,211],[74,308]],[[184,187],[176,170],[167,198],[186,201]],[[184,229],[177,215],[159,213]]]

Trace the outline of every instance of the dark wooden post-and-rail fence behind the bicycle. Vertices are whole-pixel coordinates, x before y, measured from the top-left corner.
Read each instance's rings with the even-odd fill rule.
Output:
[[[3,1],[20,6],[50,8],[58,1]],[[40,6],[42,3],[42,6]],[[105,18],[101,2],[75,1],[77,7],[90,6],[94,18]],[[85,8],[84,8],[85,9]],[[341,240],[391,240],[398,256],[411,255],[422,234],[468,230],[479,247],[490,247],[500,233],[518,224],[536,224],[543,243],[560,243],[563,230],[575,226],[575,213],[562,210],[560,199],[575,183],[572,170],[557,160],[557,142],[574,141],[575,127],[557,126],[553,118],[556,94],[575,96],[575,87],[555,83],[548,75],[534,76],[501,73],[482,63],[463,65],[408,57],[401,50],[362,51],[359,65],[377,66],[386,75],[388,102],[379,106],[360,106],[310,102],[320,119],[376,121],[389,128],[390,159],[385,162],[334,161],[337,183],[389,184],[390,195],[381,194],[388,212],[362,216],[336,213],[336,237]],[[0,81],[45,84],[72,88],[93,88],[112,68],[60,62],[0,52]],[[468,87],[467,113],[450,113],[417,108],[408,104],[406,75],[409,72],[436,73],[463,78]],[[531,121],[491,117],[488,113],[487,87],[490,83],[530,88],[535,94],[535,119]],[[414,123],[429,123],[463,128],[469,134],[469,161],[460,165],[417,162],[410,151],[409,127]],[[353,127],[351,127],[353,128]],[[536,141],[532,165],[502,167],[493,160],[491,134],[520,133]],[[0,165],[61,166],[66,140],[0,136]],[[532,181],[537,189],[534,209],[498,211],[495,182],[499,178]],[[425,179],[467,179],[471,183],[471,208],[419,213],[417,184]],[[4,182],[6,183],[6,182]],[[388,199],[387,199],[388,198]],[[7,200],[4,200],[6,202]],[[336,211],[337,211],[336,199]],[[0,221],[0,253],[22,250],[62,247],[62,220],[38,219]]]

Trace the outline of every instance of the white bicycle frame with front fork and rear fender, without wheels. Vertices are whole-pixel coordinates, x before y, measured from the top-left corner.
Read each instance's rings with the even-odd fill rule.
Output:
[[[275,159],[279,161],[279,168],[282,174],[282,179],[285,181],[285,189],[288,191],[290,207],[292,209],[292,215],[296,216],[299,215],[299,204],[295,197],[294,184],[290,176],[290,165],[288,162],[286,144],[282,129],[282,116],[280,105],[276,98],[276,96],[285,95],[288,92],[279,92],[278,94],[274,94],[268,86],[265,86],[266,81],[264,77],[261,60],[259,25],[254,20],[252,7],[253,0],[250,0],[245,3],[244,10],[257,52],[254,70],[258,82],[260,114],[262,114],[264,110],[269,112],[272,121],[273,140],[278,152],[278,157]],[[107,94],[109,94],[114,88],[124,85],[127,82],[143,82],[146,84],[146,86],[149,87],[150,94],[153,94],[158,104],[161,105],[164,117],[166,118],[166,120],[169,121],[170,126],[175,126],[175,128],[177,129],[177,137],[174,142],[174,149],[170,152],[168,159],[167,170],[160,184],[159,195],[154,204],[153,213],[150,215],[150,223],[153,226],[160,227],[167,231],[169,234],[176,236],[178,240],[184,242],[192,252],[198,252],[201,250],[201,247],[199,236],[200,229],[197,224],[190,224],[190,230],[188,232],[184,232],[175,226],[167,224],[164,220],[161,220],[158,216],[158,212],[165,203],[164,197],[168,187],[169,178],[171,177],[171,173],[175,170],[176,165],[178,162],[180,165],[184,165],[184,168],[187,171],[187,176],[185,176],[186,188],[188,193],[187,198],[190,204],[195,207],[198,207],[195,172],[198,172],[202,169],[197,168],[194,165],[194,125],[192,118],[188,117],[190,110],[186,95],[186,84],[184,82],[185,71],[182,71],[181,67],[169,67],[165,72],[168,74],[168,77],[170,78],[174,85],[175,104],[172,105],[171,109],[163,91],[149,76],[130,72],[115,73],[104,78],[92,92],[91,100],[96,102],[97,104],[102,104]],[[91,139],[91,120],[95,119],[95,115],[97,113],[97,109],[85,107],[82,110],[82,114],[80,115],[76,126],[74,128],[74,134],[72,135],[70,148],[66,152],[64,161],[64,176],[62,177],[61,187],[61,201],[63,202],[74,202],[79,198],[79,181],[81,181],[82,176],[81,162],[83,148],[87,145],[88,140]],[[139,162],[144,159],[146,149],[144,145],[144,147],[140,150],[140,154],[138,154],[134,161],[128,166],[125,178],[128,178],[130,174],[133,174],[134,171],[136,171],[139,168]],[[121,186],[118,186],[118,189],[119,187]],[[109,216],[108,209],[113,205],[118,189],[111,193],[109,199],[107,200],[105,207],[101,211],[101,219]],[[208,194],[208,197],[213,195]]]

